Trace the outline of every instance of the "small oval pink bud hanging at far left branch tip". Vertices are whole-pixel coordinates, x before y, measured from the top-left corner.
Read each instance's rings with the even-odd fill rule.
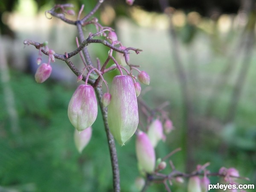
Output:
[[[41,64],[35,72],[35,81],[43,83],[52,73],[52,66],[46,63]]]

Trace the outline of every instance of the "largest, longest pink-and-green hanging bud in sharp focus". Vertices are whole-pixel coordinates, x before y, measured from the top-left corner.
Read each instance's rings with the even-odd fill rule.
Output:
[[[135,133],[139,123],[137,97],[130,76],[115,76],[108,105],[108,125],[118,143],[124,143]]]

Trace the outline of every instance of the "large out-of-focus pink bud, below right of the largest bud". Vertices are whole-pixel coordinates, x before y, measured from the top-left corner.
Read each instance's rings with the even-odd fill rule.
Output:
[[[136,156],[139,167],[147,173],[154,172],[156,156],[147,134],[139,131],[136,139]]]

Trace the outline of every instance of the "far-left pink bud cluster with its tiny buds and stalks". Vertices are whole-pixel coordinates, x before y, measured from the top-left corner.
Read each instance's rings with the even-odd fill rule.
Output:
[[[52,49],[49,49],[47,47],[48,42],[44,42],[43,44],[40,45],[39,48],[39,57],[37,58],[37,64],[41,64],[42,59],[41,59],[41,49],[42,47],[44,47],[48,53],[49,53],[49,59],[48,59],[48,63],[43,63],[41,64],[38,69],[35,72],[35,81],[38,83],[43,83],[44,81],[46,81],[49,76],[52,73],[52,66],[50,65],[50,62],[54,62],[55,58],[54,58],[54,54],[55,52]]]

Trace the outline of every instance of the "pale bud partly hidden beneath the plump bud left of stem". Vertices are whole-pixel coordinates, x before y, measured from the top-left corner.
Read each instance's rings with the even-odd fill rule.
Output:
[[[83,149],[86,147],[86,145],[89,143],[91,136],[92,127],[88,127],[81,132],[75,129],[74,140],[76,148],[79,151],[79,153],[81,153]]]

